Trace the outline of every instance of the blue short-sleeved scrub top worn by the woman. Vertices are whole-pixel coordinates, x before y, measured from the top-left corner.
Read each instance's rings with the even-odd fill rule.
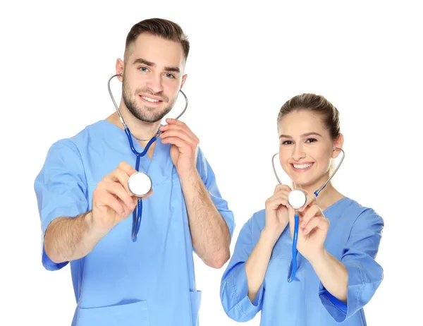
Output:
[[[231,261],[221,280],[221,303],[233,320],[245,322],[261,310],[260,325],[362,326],[367,325],[363,307],[383,279],[374,260],[384,220],[355,200],[342,198],[324,210],[330,227],[324,245],[348,270],[347,303],[338,301],[322,286],[312,265],[298,253],[298,270],[292,283],[288,272],[292,258],[289,226],[271,253],[264,282],[254,300],[247,296],[245,262],[259,240],[265,210],[256,212],[240,231]]]

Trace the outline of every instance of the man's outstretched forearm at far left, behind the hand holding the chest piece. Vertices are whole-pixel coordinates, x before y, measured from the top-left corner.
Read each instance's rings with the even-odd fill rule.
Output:
[[[104,235],[92,227],[91,211],[78,217],[59,217],[47,227],[44,248],[53,262],[68,262],[85,257]]]

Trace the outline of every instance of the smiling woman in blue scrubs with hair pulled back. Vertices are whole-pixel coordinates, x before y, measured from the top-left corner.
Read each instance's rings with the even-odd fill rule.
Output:
[[[363,307],[383,279],[375,261],[384,220],[328,183],[343,146],[339,114],[327,99],[302,94],[278,114],[279,160],[292,184],[276,186],[265,209],[243,225],[221,280],[221,302],[233,320],[261,310],[260,325],[366,325]],[[298,269],[292,260],[293,188],[307,193],[300,210]]]

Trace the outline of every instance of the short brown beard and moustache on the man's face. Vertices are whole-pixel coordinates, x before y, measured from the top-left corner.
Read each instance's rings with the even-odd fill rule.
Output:
[[[157,95],[157,94],[154,94],[154,92],[152,92],[152,90],[149,90],[149,88],[143,88],[143,89],[139,88],[135,90],[135,95],[133,98],[131,98],[129,87],[127,87],[127,85],[125,84],[125,79],[123,79],[122,88],[123,88],[123,92],[122,92],[123,102],[125,103],[130,113],[132,113],[133,116],[135,116],[135,118],[139,119],[140,121],[149,122],[149,123],[161,121],[161,119],[163,119],[164,116],[166,116],[166,114],[168,114],[169,111],[171,111],[173,104],[175,104],[176,102],[176,97],[171,102],[168,102],[168,97],[158,95],[161,97],[161,99],[163,99],[163,102],[168,102],[168,106],[161,109],[161,111],[157,111],[158,110],[157,108],[147,107],[146,105],[143,105],[140,108],[140,107],[137,107],[137,102],[136,102],[136,97],[138,96],[138,94],[140,93],[149,94],[149,95]]]

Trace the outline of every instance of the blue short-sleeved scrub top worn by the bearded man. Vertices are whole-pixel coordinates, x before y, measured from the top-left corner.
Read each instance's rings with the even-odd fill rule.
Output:
[[[140,144],[134,144],[142,152]],[[137,241],[131,237],[131,214],[91,253],[71,261],[77,301],[72,325],[197,325],[201,291],[195,286],[187,207],[170,146],[158,138],[152,159],[145,155],[140,160],[140,171],[152,178],[153,194],[143,200]],[[91,210],[97,183],[121,161],[135,167],[125,132],[106,120],[51,145],[35,179],[42,238],[53,219]],[[201,150],[197,170],[232,238],[233,213]],[[52,262],[42,243],[42,264],[59,270],[68,262]]]

